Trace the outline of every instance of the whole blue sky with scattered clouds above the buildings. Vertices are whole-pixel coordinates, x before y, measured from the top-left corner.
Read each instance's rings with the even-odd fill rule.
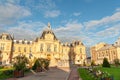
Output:
[[[34,40],[48,22],[61,42],[113,44],[120,37],[120,0],[0,0],[0,33]]]

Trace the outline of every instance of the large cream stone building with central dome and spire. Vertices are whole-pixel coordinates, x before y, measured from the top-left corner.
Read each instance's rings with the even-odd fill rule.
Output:
[[[0,64],[10,64],[18,55],[25,55],[30,61],[35,58],[50,59],[50,66],[69,67],[70,63],[86,63],[86,47],[81,41],[62,43],[55,36],[50,23],[42,35],[34,41],[15,40],[7,33],[0,35]]]

